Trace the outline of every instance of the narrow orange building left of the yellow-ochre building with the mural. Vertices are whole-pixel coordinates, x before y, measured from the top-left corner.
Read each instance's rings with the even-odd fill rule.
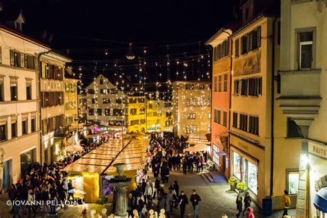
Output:
[[[232,30],[221,28],[206,45],[213,48],[211,103],[211,158],[229,177],[228,130],[230,127],[230,75]]]

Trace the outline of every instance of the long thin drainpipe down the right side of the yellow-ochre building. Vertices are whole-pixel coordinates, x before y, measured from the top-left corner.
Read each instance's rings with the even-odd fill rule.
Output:
[[[274,109],[275,109],[275,24],[277,17],[274,18],[273,21],[273,36],[272,39],[272,54],[271,54],[271,126],[270,126],[270,143],[271,143],[271,151],[270,151],[270,197],[273,197],[273,188],[274,188],[274,152],[275,152],[275,140],[274,140]]]

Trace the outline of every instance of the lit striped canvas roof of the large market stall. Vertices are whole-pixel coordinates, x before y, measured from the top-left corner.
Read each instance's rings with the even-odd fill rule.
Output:
[[[121,139],[110,139],[62,170],[112,174],[118,163],[125,163],[125,170],[137,170],[146,163],[148,143],[149,139],[125,139],[122,148]]]

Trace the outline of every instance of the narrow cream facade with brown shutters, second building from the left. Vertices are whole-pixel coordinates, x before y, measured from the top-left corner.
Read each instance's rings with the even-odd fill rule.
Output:
[[[41,100],[41,159],[53,163],[60,155],[65,132],[65,77],[66,63],[72,61],[56,52],[40,57]]]

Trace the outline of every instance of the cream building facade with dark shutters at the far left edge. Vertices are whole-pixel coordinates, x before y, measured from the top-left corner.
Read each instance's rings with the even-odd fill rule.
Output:
[[[19,15],[21,16],[21,15]],[[15,21],[16,22],[16,21]],[[17,24],[17,22],[16,22]],[[15,25],[16,25],[15,24]],[[18,23],[21,24],[21,23]],[[17,26],[18,26],[17,24]],[[0,183],[2,191],[40,161],[37,63],[49,50],[19,30],[0,26]]]

